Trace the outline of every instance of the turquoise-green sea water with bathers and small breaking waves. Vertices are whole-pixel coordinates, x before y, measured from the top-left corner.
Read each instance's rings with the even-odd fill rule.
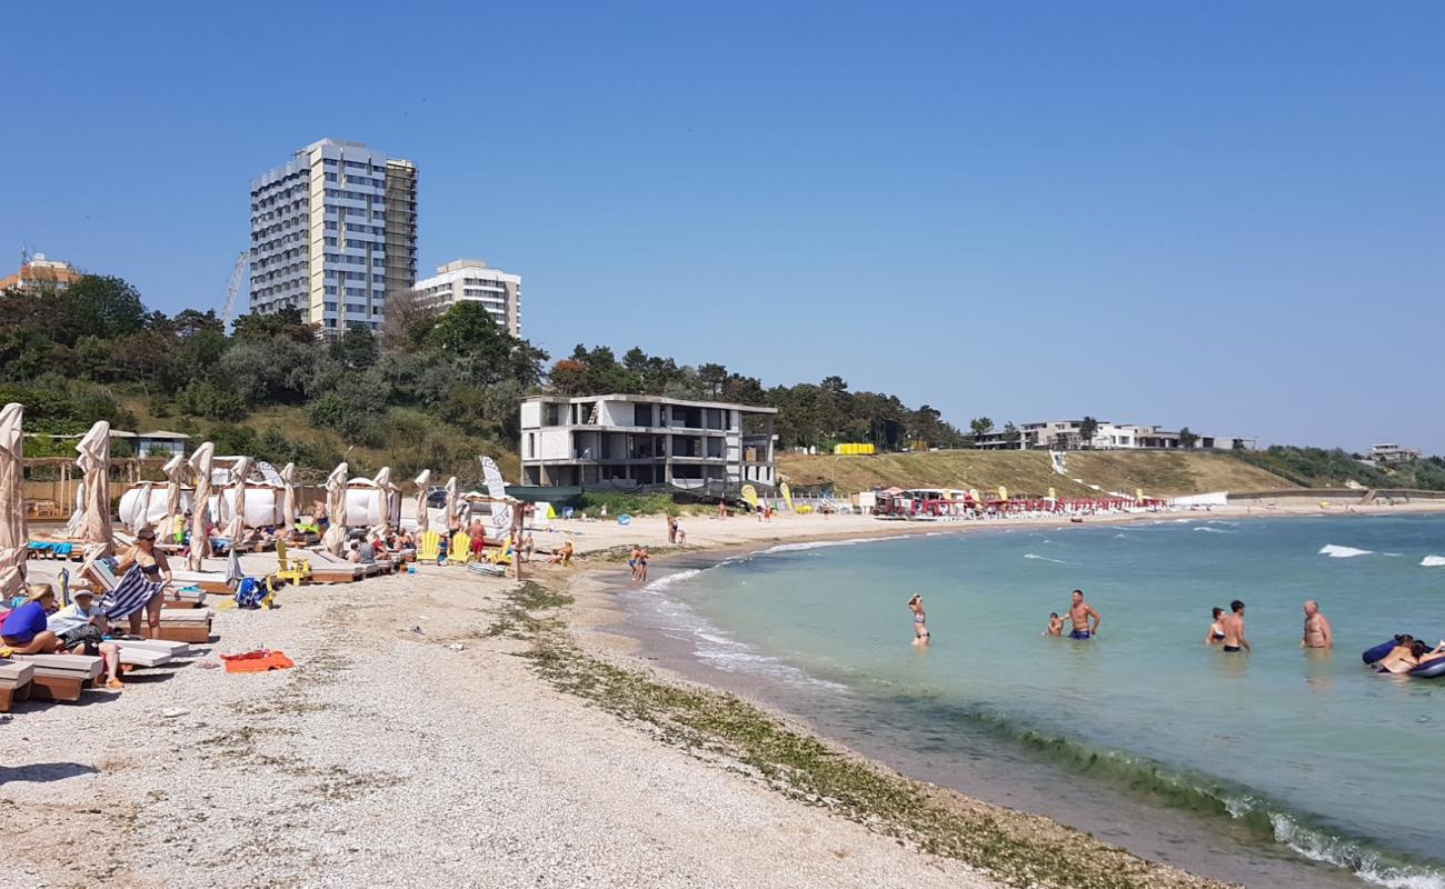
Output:
[[[1082,588],[1091,642],[1042,636]],[[933,635],[910,645],[922,593]],[[1207,648],[1247,604],[1250,655]],[[1302,604],[1334,624],[1299,648]],[[1360,652],[1445,636],[1445,516],[1013,528],[789,544],[655,581],[704,662],[814,695],[912,757],[1010,750],[1231,823],[1384,886],[1445,886],[1445,678],[1380,677]],[[831,714],[831,717],[829,717]]]

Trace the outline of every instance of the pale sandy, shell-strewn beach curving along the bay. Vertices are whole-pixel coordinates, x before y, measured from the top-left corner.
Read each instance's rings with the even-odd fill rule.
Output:
[[[0,860],[12,882],[1212,885],[1046,820],[907,782],[844,750],[827,756],[854,779],[880,775],[879,786],[907,805],[868,811],[803,792],[806,775],[775,769],[725,731],[708,736],[670,698],[753,714],[750,704],[695,690],[601,630],[618,616],[601,583],[621,570],[616,548],[644,542],[666,564],[663,520],[558,528],[538,535],[539,546],[571,538],[591,555],[571,570],[529,565],[526,585],[425,565],[415,575],[288,588],[279,609],[218,611],[218,643],[198,646],[179,666],[133,674],[123,692],[16,705],[0,718],[10,836]],[[683,528],[689,549],[701,552],[957,526],[779,516],[683,517]],[[247,564],[260,571],[267,558],[275,564],[262,555]],[[220,652],[260,646],[285,650],[298,666],[262,675],[214,668]],[[673,710],[649,708],[662,698]],[[747,718],[776,720],[769,731],[816,744],[792,734],[801,730],[786,717],[759,713]],[[858,799],[893,798],[870,792]],[[1003,837],[994,846],[1023,851],[978,853],[971,837],[981,834],[968,831],[981,824]],[[1035,853],[1094,866],[1074,876],[1032,872]],[[1016,869],[990,875],[970,862]]]

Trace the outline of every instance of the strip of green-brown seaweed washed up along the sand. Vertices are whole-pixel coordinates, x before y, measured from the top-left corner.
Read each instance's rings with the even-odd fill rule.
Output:
[[[1010,886],[1143,889],[1218,886],[1144,862],[1046,818],[1014,812],[887,772],[788,726],[731,694],[659,681],[582,650],[562,609],[572,597],[535,581],[509,594],[499,622],[525,639],[553,687],[665,743],[738,769],[920,851],[958,860]]]

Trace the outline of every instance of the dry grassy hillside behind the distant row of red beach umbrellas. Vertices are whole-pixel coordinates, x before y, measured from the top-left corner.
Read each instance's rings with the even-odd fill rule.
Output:
[[[880,454],[877,457],[831,457],[785,454],[779,471],[793,484],[832,481],[840,493],[874,486],[977,487],[1009,486],[1010,494],[1045,494],[1053,487],[1061,497],[1094,494],[1084,484],[1105,490],[1150,496],[1198,494],[1218,490],[1263,490],[1295,487],[1293,483],[1218,454],[1170,454],[1163,451],[1090,451],[1068,455],[1068,477],[1059,476],[1043,451],[936,451],[929,454]]]

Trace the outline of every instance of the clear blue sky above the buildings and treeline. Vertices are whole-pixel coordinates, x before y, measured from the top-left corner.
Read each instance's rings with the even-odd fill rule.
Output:
[[[4,272],[25,241],[155,308],[218,306],[251,176],[332,136],[415,160],[422,272],[522,273],[553,356],[837,373],[959,425],[1445,452],[1445,4],[38,3],[10,23],[30,38],[0,55]]]

